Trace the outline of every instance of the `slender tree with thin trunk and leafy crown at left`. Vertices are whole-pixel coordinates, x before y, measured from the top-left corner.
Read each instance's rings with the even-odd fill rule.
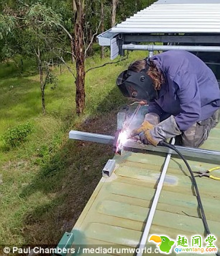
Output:
[[[39,3],[31,6],[22,5],[19,9],[9,6],[4,8],[4,15],[0,17],[2,37],[10,40],[11,53],[16,53],[36,58],[39,70],[42,110],[45,113],[45,87],[48,83],[55,82],[55,77],[50,72],[50,60],[57,55],[57,47],[62,47],[63,38],[58,29],[61,16],[51,8]],[[6,29],[7,28],[7,29]],[[19,49],[19,51],[18,51]]]

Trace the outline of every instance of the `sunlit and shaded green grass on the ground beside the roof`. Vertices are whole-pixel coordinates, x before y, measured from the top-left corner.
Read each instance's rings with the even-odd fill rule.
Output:
[[[101,177],[101,169],[112,157],[112,149],[70,141],[68,131],[114,134],[116,113],[126,102],[115,86],[116,77],[131,61],[144,56],[136,51],[125,62],[88,72],[86,112],[80,118],[75,114],[74,78],[65,67],[58,75],[57,88],[46,88],[47,114],[43,116],[35,70],[26,61],[20,75],[13,63],[1,64],[0,138],[17,124],[30,121],[34,125],[27,140],[9,151],[0,139],[1,245],[55,245],[72,229]],[[94,55],[86,60],[86,68],[107,61],[108,57],[101,60]]]

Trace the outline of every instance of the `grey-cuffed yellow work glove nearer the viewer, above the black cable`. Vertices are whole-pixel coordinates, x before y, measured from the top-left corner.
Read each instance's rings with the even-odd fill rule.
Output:
[[[146,130],[143,133],[144,137],[141,135],[140,139],[145,144],[157,146],[160,141],[175,137],[181,133],[174,116],[170,116],[163,122],[155,125],[152,129]]]

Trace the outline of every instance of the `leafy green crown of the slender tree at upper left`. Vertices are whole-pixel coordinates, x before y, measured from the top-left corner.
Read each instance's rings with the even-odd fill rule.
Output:
[[[56,56],[58,48],[62,48],[65,40],[59,27],[62,17],[50,6],[38,2],[30,6],[20,4],[14,9],[14,6],[6,5],[2,13],[0,35],[7,41],[7,49],[3,49],[5,53],[36,57],[40,50],[44,59],[48,55]],[[4,52],[1,50],[1,59],[4,59]]]

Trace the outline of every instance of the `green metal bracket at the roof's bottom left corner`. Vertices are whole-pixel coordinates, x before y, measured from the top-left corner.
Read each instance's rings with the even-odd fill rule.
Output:
[[[70,249],[70,247],[72,246],[72,243],[74,241],[74,235],[73,233],[68,233],[65,232],[65,234],[62,236],[62,238],[60,239],[59,244],[56,247],[56,253],[54,253],[53,255],[61,255],[61,256],[65,256],[68,253],[68,249]]]

